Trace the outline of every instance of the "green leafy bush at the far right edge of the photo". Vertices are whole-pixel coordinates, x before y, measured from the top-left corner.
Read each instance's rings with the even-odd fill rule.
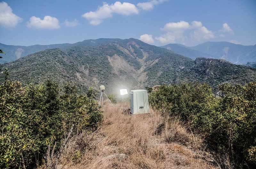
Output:
[[[223,96],[218,118],[218,136],[232,159],[244,157],[256,165],[256,81],[219,86]]]

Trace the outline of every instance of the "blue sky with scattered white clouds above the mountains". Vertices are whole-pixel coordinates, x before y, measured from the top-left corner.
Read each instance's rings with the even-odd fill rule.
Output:
[[[0,1],[0,43],[136,38],[156,46],[255,45],[255,9],[255,0],[6,0]]]

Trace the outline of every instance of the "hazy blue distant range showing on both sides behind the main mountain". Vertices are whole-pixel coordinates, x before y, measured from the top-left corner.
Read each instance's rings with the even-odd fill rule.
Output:
[[[32,46],[14,46],[5,45],[0,43],[0,49],[2,49],[6,55],[0,60],[0,64],[17,60],[23,56],[53,48],[67,49],[74,46],[100,46],[108,43],[122,43],[121,39],[97,39],[97,40],[84,40],[77,43],[63,43],[53,45],[32,45]],[[187,47],[181,44],[168,44],[161,46],[172,50],[174,53],[189,57],[195,60],[197,57],[213,58],[213,59],[225,59],[235,64],[246,65],[247,62],[256,62],[256,45],[244,46],[234,44],[230,42],[205,42],[194,47]],[[250,66],[248,64],[248,66]]]

